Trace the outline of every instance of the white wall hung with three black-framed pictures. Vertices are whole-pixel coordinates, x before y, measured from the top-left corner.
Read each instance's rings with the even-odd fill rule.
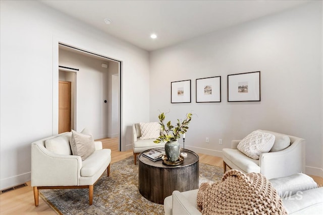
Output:
[[[302,137],[306,172],[322,177],[322,38],[318,1],[153,51],[150,121],[158,109],[172,121],[193,111],[185,147],[216,156],[256,129]],[[227,75],[259,70],[261,101],[227,102]],[[222,102],[196,103],[195,79],[214,76]],[[192,102],[171,104],[171,82],[188,79]]]

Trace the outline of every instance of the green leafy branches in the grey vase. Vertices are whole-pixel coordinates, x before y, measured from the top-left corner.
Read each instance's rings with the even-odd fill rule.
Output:
[[[181,122],[177,119],[177,123],[175,126],[172,125],[171,121],[168,121],[166,126],[164,124],[165,114],[161,113],[158,115],[159,124],[161,125],[161,135],[153,141],[155,144],[159,144],[159,142],[168,142],[168,141],[176,141],[181,138],[181,134],[187,132],[188,124],[192,119],[192,113],[186,114],[186,118]]]

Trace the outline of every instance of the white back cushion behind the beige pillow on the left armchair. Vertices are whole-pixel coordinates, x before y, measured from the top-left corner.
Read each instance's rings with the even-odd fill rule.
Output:
[[[45,141],[45,148],[58,155],[72,155],[70,138],[72,132]]]

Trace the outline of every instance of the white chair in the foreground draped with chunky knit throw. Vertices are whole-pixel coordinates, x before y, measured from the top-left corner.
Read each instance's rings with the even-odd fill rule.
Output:
[[[282,198],[288,214],[322,214],[323,187],[317,188],[311,177],[297,173],[270,181]],[[198,189],[185,192],[175,190],[164,200],[165,215],[200,215],[197,192]]]

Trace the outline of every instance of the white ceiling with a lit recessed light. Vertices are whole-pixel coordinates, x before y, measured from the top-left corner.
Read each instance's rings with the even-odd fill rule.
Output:
[[[311,1],[41,1],[148,51]],[[112,20],[110,25],[104,19]],[[150,34],[157,34],[151,39]]]

